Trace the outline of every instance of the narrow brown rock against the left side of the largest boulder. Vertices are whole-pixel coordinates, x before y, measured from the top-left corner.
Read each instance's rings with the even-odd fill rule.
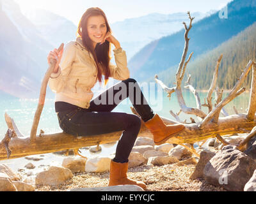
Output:
[[[210,161],[212,157],[215,156],[215,154],[216,154],[215,152],[211,152],[209,150],[203,150],[200,153],[200,159],[196,164],[195,171],[191,174],[189,179],[203,178],[205,165],[208,163],[208,161]]]

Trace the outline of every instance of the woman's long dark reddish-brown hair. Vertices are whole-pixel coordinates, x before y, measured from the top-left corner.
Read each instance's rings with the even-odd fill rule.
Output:
[[[110,50],[111,50],[111,43],[109,41],[105,41],[102,45],[99,45],[99,43],[96,45],[95,49],[93,48],[93,43],[92,40],[88,36],[88,31],[87,31],[87,24],[88,24],[88,19],[92,16],[99,16],[102,15],[104,17],[106,26],[107,26],[107,33],[112,32],[109,24],[107,17],[100,8],[94,7],[94,8],[88,8],[86,10],[79,22],[79,25],[77,27],[77,36],[82,38],[83,45],[90,51],[93,55],[93,59],[96,62],[97,70],[98,70],[98,75],[97,78],[99,82],[102,82],[102,74],[104,73],[105,75],[105,83],[106,85],[108,83],[108,78],[110,76],[110,69],[109,69],[109,61],[111,59],[110,56]],[[102,69],[100,69],[100,65]]]

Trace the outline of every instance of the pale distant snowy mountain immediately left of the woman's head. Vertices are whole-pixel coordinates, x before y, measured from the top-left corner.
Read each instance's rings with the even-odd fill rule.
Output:
[[[42,9],[26,11],[24,15],[53,47],[76,39],[77,26],[65,17]]]

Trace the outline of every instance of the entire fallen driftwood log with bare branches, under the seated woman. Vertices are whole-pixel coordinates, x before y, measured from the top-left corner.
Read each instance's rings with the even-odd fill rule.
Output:
[[[186,106],[184,98],[182,96],[182,80],[184,78],[186,72],[186,66],[190,61],[193,53],[189,55],[188,60],[186,61],[186,55],[188,52],[188,44],[189,38],[188,33],[192,27],[192,21],[194,18],[191,18],[190,13],[188,12],[190,24],[189,27],[184,23],[185,27],[185,47],[184,53],[182,54],[182,59],[179,64],[179,68],[176,74],[176,87],[169,88],[164,85],[161,80],[156,76],[156,82],[161,85],[164,91],[167,92],[168,97],[171,97],[173,92],[176,92],[177,99],[180,105],[180,112],[184,112],[186,114],[195,115],[199,122],[195,122],[194,119],[191,118],[191,123],[183,122],[186,127],[185,130],[177,136],[170,138],[168,143],[180,144],[186,149],[191,150],[193,154],[199,156],[196,150],[193,148],[193,143],[202,142],[204,143],[208,138],[218,138],[222,143],[228,144],[221,136],[231,136],[236,133],[250,133],[243,142],[237,147],[239,150],[244,150],[248,141],[256,135],[256,130],[253,129],[256,126],[256,72],[255,72],[255,62],[249,61],[247,66],[244,68],[244,71],[237,81],[236,85],[230,91],[228,96],[225,99],[222,99],[223,91],[216,88],[216,81],[218,79],[218,67],[220,66],[220,62],[222,59],[222,55],[218,59],[216,69],[214,72],[214,76],[212,78],[212,84],[207,94],[207,103],[205,100],[204,105],[201,105],[200,98],[195,90],[195,88],[189,84],[189,80],[191,75],[188,77],[188,88],[193,92],[196,99],[196,108],[191,108]],[[33,154],[45,154],[50,152],[57,152],[60,150],[74,149],[75,152],[81,147],[88,147],[93,145],[99,145],[102,143],[111,143],[119,140],[122,135],[122,131],[115,133],[108,133],[104,135],[95,135],[95,136],[72,136],[67,133],[55,133],[55,134],[46,134],[44,131],[41,131],[39,135],[36,135],[38,122],[40,119],[40,114],[42,112],[42,108],[44,107],[44,99],[45,92],[47,87],[47,82],[49,80],[49,76],[51,75],[51,70],[54,67],[54,62],[45,74],[45,78],[42,82],[42,87],[40,91],[40,100],[38,102],[38,110],[36,110],[35,118],[33,122],[33,127],[31,129],[30,137],[26,137],[20,133],[17,128],[14,120],[10,118],[7,114],[5,115],[6,124],[8,126],[8,131],[4,139],[0,142],[0,160],[3,159],[12,159],[17,157],[24,157]],[[240,94],[245,91],[245,88],[241,85],[243,84],[245,78],[248,76],[250,69],[253,69],[252,75],[252,87],[250,93],[250,103],[248,105],[247,113],[236,113],[235,115],[228,115],[225,113],[223,109],[227,103],[232,101],[232,99],[236,98]],[[216,100],[215,105],[212,107],[212,93],[216,91]],[[202,111],[202,106],[208,107],[208,113],[204,113]],[[132,112],[134,114],[138,114],[132,108]],[[179,112],[179,113],[180,113]],[[223,112],[225,117],[220,117],[220,113]],[[179,113],[173,113],[173,117],[181,122],[179,119]],[[177,124],[175,120],[163,118],[165,124]],[[12,131],[14,130],[14,132]],[[141,129],[139,136],[146,136],[152,138],[152,134],[150,131],[141,124]],[[202,145],[201,143],[201,145]],[[187,145],[184,145],[187,144]]]

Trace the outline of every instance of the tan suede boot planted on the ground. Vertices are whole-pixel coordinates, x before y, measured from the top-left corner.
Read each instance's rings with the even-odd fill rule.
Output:
[[[136,185],[142,187],[143,189],[146,188],[146,184],[143,182],[128,179],[126,175],[127,171],[128,163],[116,163],[115,161],[111,160],[108,186]]]

